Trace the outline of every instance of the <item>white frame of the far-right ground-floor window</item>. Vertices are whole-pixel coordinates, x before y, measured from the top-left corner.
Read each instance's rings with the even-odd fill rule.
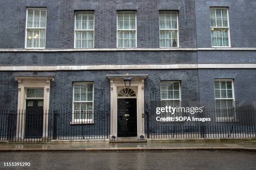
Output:
[[[234,90],[234,80],[233,79],[214,79],[214,83],[215,82],[219,82],[219,81],[231,81],[232,83],[232,96],[233,98],[216,98],[215,97],[215,85],[214,85],[214,101],[216,103],[216,100],[233,100],[233,107],[234,107],[234,117],[217,117],[217,108],[216,108],[216,104],[215,104],[215,121],[216,122],[236,122],[238,121],[236,119],[236,106],[235,106],[235,90]],[[218,90],[218,89],[216,89]],[[227,89],[223,89],[223,90],[227,90]],[[221,89],[220,89],[221,91]],[[221,96],[221,92],[220,92],[220,96]]]

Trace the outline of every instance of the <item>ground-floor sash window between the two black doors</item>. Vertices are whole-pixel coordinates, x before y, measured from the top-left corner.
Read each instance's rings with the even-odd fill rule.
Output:
[[[74,82],[73,85],[73,122],[93,122],[93,83]]]

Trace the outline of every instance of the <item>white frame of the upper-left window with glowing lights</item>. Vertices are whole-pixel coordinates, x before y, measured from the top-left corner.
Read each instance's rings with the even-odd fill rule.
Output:
[[[45,26],[47,27],[47,8],[46,7],[27,7],[26,9],[26,33],[25,33],[25,48],[26,49],[45,49],[46,48],[46,27],[45,28],[28,28],[28,10],[46,10],[46,21],[45,21]],[[34,11],[35,13],[35,11]],[[40,12],[41,15],[41,12]],[[39,20],[40,23],[40,20]],[[45,40],[44,40],[44,47],[27,47],[27,34],[28,34],[28,29],[45,29]],[[40,37],[40,35],[39,35]]]

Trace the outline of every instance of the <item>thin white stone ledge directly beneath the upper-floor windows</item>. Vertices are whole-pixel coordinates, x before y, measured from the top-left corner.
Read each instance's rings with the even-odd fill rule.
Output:
[[[23,49],[0,48],[0,52],[76,52],[76,51],[199,51],[199,50],[256,50],[256,47],[218,47],[218,48],[65,48],[65,49]]]

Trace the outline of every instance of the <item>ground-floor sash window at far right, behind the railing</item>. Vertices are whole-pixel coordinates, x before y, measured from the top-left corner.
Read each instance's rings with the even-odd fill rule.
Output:
[[[233,80],[230,79],[215,79],[215,107],[216,117],[222,118],[223,121],[227,118],[234,117],[234,90]],[[219,119],[222,121],[222,119]]]

